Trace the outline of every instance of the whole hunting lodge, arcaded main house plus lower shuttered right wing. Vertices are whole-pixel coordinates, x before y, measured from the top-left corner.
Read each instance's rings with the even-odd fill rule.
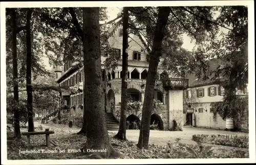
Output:
[[[109,44],[114,49],[114,53],[118,54],[122,58],[122,28],[110,28],[109,32],[112,33]],[[181,46],[182,44],[180,44]],[[146,60],[148,46],[143,38],[137,35],[130,35],[129,48],[128,48],[128,74],[127,74],[127,96],[131,97],[134,101],[143,103],[145,83],[148,72],[148,61]],[[104,105],[106,113],[106,121],[108,130],[116,130],[119,127],[120,120],[120,102],[121,102],[121,77],[122,77],[122,62],[118,62],[118,67],[115,70],[106,70],[104,68],[104,60],[108,58],[108,53],[101,52],[101,68],[102,68],[102,84],[105,93]],[[160,130],[169,130],[173,128],[174,120],[183,128],[183,125],[199,126],[203,127],[216,127],[219,129],[225,129],[225,121],[219,119],[217,121],[210,120],[212,114],[210,114],[210,106],[207,104],[208,111],[205,111],[205,107],[197,106],[197,102],[189,103],[192,107],[187,107],[187,100],[190,98],[197,98],[207,103],[211,102],[216,95],[216,99],[213,101],[221,101],[222,88],[218,88],[218,84],[208,84],[210,86],[210,97],[207,96],[207,87],[204,89],[204,84],[194,85],[189,87],[188,79],[181,77],[174,77],[167,74],[164,68],[161,66],[162,59],[158,66],[159,78],[155,84],[154,99],[159,100],[161,103],[160,110],[152,112],[151,124],[158,124]],[[55,67],[56,82],[59,86],[75,86],[80,85],[80,89],[75,92],[62,92],[61,100],[66,105],[71,107],[71,113],[82,113],[81,105],[83,105],[83,66],[80,68],[72,67],[77,64],[71,61],[65,61],[63,70],[62,67]],[[162,79],[164,77],[164,79]],[[194,81],[194,79],[193,79]],[[206,84],[207,85],[207,84]],[[203,87],[202,87],[203,86]],[[211,89],[211,87],[213,87]],[[189,89],[189,90],[188,90]],[[195,91],[194,91],[195,90]],[[219,93],[217,92],[219,91]],[[196,93],[198,92],[197,96]],[[194,94],[195,95],[194,95]],[[193,95],[193,96],[192,96]],[[207,97],[206,97],[207,96]],[[206,99],[206,100],[205,100]],[[114,109],[111,106],[115,104]],[[72,107],[76,108],[72,108]],[[184,108],[183,108],[184,107]],[[194,108],[195,110],[191,110]],[[203,108],[203,110],[202,110]],[[193,115],[192,115],[193,114]],[[139,112],[127,112],[127,121],[138,122],[141,120],[142,111]],[[197,117],[198,116],[198,117]],[[199,120],[196,121],[198,118]],[[196,121],[193,122],[192,120]],[[210,120],[210,122],[208,122]],[[207,123],[208,122],[208,123]]]

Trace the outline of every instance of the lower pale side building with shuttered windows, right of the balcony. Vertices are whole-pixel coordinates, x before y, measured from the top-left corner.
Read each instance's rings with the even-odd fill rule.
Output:
[[[214,70],[221,61],[209,61],[210,69]],[[183,123],[185,126],[194,126],[211,129],[226,129],[226,120],[217,113],[216,120],[213,119],[213,108],[211,103],[222,102],[224,78],[218,82],[199,81],[195,75],[188,75],[188,88],[183,91]],[[248,97],[247,89],[238,90],[237,95]],[[245,112],[247,113],[247,112]],[[248,116],[248,113],[245,116]],[[242,119],[240,127],[248,130],[248,117]]]

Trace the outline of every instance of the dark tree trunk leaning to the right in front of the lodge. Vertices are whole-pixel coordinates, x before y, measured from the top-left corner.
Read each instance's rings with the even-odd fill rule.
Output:
[[[157,66],[161,56],[161,44],[164,37],[164,30],[170,13],[169,7],[159,7],[157,26],[154,34],[153,49],[148,66],[148,74],[145,87],[145,99],[143,103],[142,119],[140,127],[138,148],[148,149],[148,140],[150,138],[150,120],[154,96],[154,87],[157,75]]]

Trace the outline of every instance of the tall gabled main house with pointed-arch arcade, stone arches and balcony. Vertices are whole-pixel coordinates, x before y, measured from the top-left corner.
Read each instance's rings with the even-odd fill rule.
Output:
[[[110,33],[113,34],[109,38],[109,43],[113,48],[113,52],[122,57],[122,29],[120,27],[110,28]],[[138,35],[131,35],[129,38],[128,49],[128,74],[127,74],[127,94],[129,98],[134,101],[144,101],[144,90],[148,70],[148,61],[146,55],[148,46],[142,37]],[[119,121],[118,111],[120,111],[121,102],[121,77],[122,77],[122,65],[121,61],[118,62],[118,66],[115,70],[106,70],[104,67],[104,61],[109,57],[108,52],[101,52],[101,68],[102,68],[102,84],[105,92],[105,112],[113,113],[116,119]],[[76,63],[66,61],[64,70],[60,70],[59,66],[56,67],[56,81],[60,86],[71,86],[74,91],[67,93],[62,92],[62,101],[71,107],[71,111],[74,114],[76,112],[82,112],[82,108],[79,105],[83,105],[83,66],[72,67]],[[183,128],[183,89],[188,85],[187,79],[173,77],[168,75],[167,72],[161,67],[161,62],[158,69],[159,79],[156,81],[154,99],[159,100],[159,110],[153,111],[152,115],[159,120],[161,129],[172,129],[173,120],[176,120],[180,128]],[[161,77],[165,77],[161,79]],[[115,104],[115,109],[111,109],[111,103]],[[76,107],[74,111],[74,107]],[[136,116],[138,120],[141,120],[141,111],[136,114],[127,114],[127,119],[131,116]],[[160,127],[159,127],[160,128]]]

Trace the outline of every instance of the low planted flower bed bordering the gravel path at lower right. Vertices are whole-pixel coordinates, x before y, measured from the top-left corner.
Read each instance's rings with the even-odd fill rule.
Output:
[[[248,136],[230,136],[230,135],[193,135],[195,142],[208,143],[214,145],[249,148]]]

